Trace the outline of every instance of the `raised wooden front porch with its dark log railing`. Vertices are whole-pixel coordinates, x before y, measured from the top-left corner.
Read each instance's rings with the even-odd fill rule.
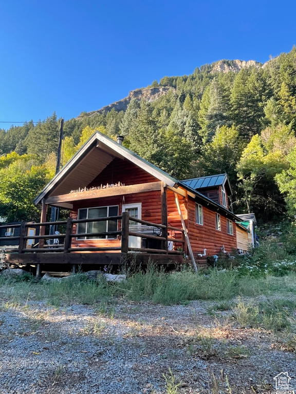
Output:
[[[77,234],[73,226],[79,223],[117,221],[117,231],[86,232]],[[130,226],[130,221],[139,226]],[[59,234],[50,234],[50,226],[57,226]],[[12,226],[10,226],[12,227]],[[2,259],[9,264],[18,266],[36,266],[36,273],[49,265],[102,265],[122,266],[128,264],[147,264],[153,260],[158,264],[182,263],[183,251],[186,252],[184,230],[169,225],[147,222],[131,218],[128,212],[105,218],[71,219],[58,222],[21,223],[13,225],[20,228],[20,235],[9,237],[17,240],[17,248],[6,248],[2,251]],[[5,226],[0,226],[5,228]],[[39,234],[29,234],[28,229],[39,228]],[[147,231],[147,228],[150,231]],[[133,231],[131,230],[133,229]],[[155,229],[154,234],[151,229]],[[37,231],[38,232],[38,231]],[[118,246],[74,246],[72,240],[78,237],[108,237],[116,238]],[[130,237],[141,239],[141,247],[129,246]],[[0,240],[7,240],[1,237]],[[33,243],[32,241],[33,240]],[[149,246],[149,241],[155,242],[155,248]],[[30,245],[31,244],[31,245]],[[145,247],[143,247],[145,246]],[[71,267],[69,267],[71,269]]]

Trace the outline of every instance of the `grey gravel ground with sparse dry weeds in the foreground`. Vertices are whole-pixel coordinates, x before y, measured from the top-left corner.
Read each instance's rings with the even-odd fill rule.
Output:
[[[235,325],[228,311],[211,316],[210,302],[5,302],[1,394],[270,393],[282,371],[296,385],[294,352],[275,345],[268,331]],[[170,391],[174,376],[179,391]]]

